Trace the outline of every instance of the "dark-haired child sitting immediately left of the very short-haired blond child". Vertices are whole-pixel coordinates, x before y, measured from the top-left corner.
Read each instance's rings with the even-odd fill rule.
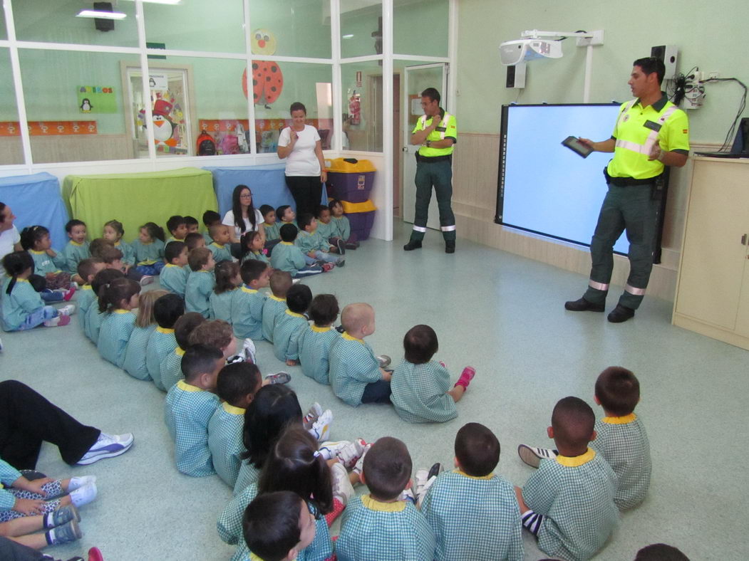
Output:
[[[330,384],[328,354],[330,347],[340,337],[333,328],[338,312],[338,300],[334,295],[318,294],[312,298],[309,306],[309,316],[314,323],[300,336],[299,361],[302,372],[321,384]]]

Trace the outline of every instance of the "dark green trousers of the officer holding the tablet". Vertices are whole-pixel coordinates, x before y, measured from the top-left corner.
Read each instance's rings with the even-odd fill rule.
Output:
[[[629,241],[629,277],[619,304],[637,310],[643,301],[653,267],[655,231],[660,200],[651,196],[650,184],[608,186],[598,224],[590,242],[590,283],[585,295],[593,304],[604,304],[613,270],[613,245],[626,230]]]

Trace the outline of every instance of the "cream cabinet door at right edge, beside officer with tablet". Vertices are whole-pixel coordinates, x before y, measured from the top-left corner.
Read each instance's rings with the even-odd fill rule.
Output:
[[[736,328],[742,285],[749,290],[742,245],[749,233],[748,171],[730,162],[694,162],[676,301],[677,313],[730,331]]]

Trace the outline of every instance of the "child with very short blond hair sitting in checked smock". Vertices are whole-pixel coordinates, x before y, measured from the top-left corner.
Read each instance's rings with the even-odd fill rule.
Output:
[[[389,403],[391,374],[380,367],[364,337],[375,333],[375,310],[348,304],[341,314],[345,331],[330,347],[330,385],[348,405]]]

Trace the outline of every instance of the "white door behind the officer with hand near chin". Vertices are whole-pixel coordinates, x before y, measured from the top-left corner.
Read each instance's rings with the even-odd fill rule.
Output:
[[[406,67],[405,85],[403,88],[403,104],[401,115],[403,116],[403,148],[401,148],[401,186],[403,186],[402,214],[405,222],[413,224],[414,203],[416,203],[416,185],[413,183],[416,177],[416,153],[418,146],[410,144],[411,131],[416,126],[416,120],[424,114],[421,108],[421,92],[426,88],[437,88],[440,91],[440,107],[446,105],[447,92],[447,64],[421,64],[419,66]],[[429,219],[427,227],[434,230],[440,229],[440,214],[437,209],[437,197],[432,190],[429,201]]]

